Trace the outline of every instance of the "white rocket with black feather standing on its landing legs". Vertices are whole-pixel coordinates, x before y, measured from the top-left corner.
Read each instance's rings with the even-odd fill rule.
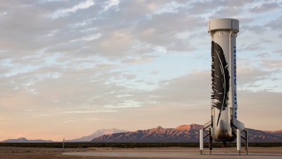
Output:
[[[240,152],[240,132],[245,126],[237,119],[236,90],[236,37],[239,21],[231,18],[209,20],[208,32],[212,37],[212,119],[204,124],[208,131],[209,149],[212,141],[226,142],[237,138]],[[247,131],[245,138],[247,146]],[[203,129],[200,130],[200,151],[203,149]],[[246,147],[247,149],[247,147]]]

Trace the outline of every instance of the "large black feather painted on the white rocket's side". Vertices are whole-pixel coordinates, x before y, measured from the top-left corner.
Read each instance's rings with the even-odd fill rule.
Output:
[[[212,107],[220,110],[217,124],[222,110],[228,105],[228,92],[229,92],[229,72],[228,64],[223,54],[220,45],[212,41]]]

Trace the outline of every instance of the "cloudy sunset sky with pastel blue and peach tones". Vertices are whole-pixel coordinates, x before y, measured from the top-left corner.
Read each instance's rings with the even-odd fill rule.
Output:
[[[210,119],[213,18],[240,21],[238,119],[282,129],[282,1],[0,1],[0,141]]]

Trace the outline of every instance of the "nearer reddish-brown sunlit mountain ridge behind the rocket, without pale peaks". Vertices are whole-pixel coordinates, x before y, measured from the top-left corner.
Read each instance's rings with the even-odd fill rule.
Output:
[[[183,124],[176,128],[164,129],[161,126],[147,130],[130,131],[99,136],[91,142],[97,143],[145,143],[145,142],[167,142],[167,143],[197,143],[199,142],[199,124]],[[282,131],[261,131],[247,129],[249,142],[282,142]]]

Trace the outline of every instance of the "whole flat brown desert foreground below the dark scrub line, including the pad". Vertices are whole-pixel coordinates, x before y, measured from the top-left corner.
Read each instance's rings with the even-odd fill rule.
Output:
[[[157,159],[157,158],[282,158],[282,147],[257,148],[250,147],[247,155],[242,148],[238,155],[236,148],[214,148],[212,155],[209,149],[200,155],[199,148],[21,148],[0,147],[0,159],[21,158],[48,158],[48,159],[73,159],[73,158],[99,158],[99,159]]]

